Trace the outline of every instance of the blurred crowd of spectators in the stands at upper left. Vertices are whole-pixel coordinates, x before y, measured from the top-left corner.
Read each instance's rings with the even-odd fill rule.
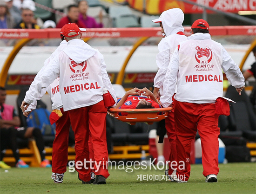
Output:
[[[40,29],[40,28],[61,28],[68,23],[76,23],[82,28],[101,28],[102,13],[99,13],[100,23],[93,17],[87,15],[88,2],[78,1],[78,5],[67,7],[67,16],[59,21],[41,19],[35,17],[35,2],[33,0],[0,0],[0,28],[16,29]],[[54,17],[55,20],[55,17]]]

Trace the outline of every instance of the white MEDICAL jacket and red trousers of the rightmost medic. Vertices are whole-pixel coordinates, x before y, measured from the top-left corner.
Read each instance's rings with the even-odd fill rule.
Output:
[[[164,81],[164,107],[175,95],[175,131],[177,161],[185,162],[185,169],[177,168],[177,175],[187,181],[190,175],[191,142],[198,129],[202,142],[203,175],[217,175],[218,115],[215,100],[222,97],[222,70],[236,88],[244,86],[243,74],[223,46],[211,40],[208,33],[195,33],[180,43],[172,55]],[[181,176],[182,175],[182,176]]]

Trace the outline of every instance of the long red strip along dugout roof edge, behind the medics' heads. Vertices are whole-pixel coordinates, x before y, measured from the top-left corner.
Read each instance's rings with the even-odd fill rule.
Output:
[[[190,36],[190,27],[185,35]],[[1,39],[46,39],[60,38],[61,29],[0,29]],[[254,35],[256,26],[210,26],[210,34],[215,35]],[[88,28],[82,32],[83,38],[122,38],[122,37],[162,37],[160,27],[151,28]]]

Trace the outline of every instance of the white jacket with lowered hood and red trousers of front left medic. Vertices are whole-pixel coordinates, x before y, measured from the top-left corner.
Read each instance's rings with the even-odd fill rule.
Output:
[[[108,78],[102,54],[81,39],[68,41],[67,47],[44,69],[34,96],[26,94],[24,101],[32,103],[42,88],[60,77],[60,94],[64,111],[69,114],[75,136],[75,162],[89,160],[88,137],[92,136],[94,160],[100,165],[96,175],[109,176],[107,170],[108,150],[106,142],[107,108],[103,102],[103,87],[112,97],[114,89]],[[94,165],[96,169],[96,166]],[[90,180],[90,169],[76,169],[83,181]]]

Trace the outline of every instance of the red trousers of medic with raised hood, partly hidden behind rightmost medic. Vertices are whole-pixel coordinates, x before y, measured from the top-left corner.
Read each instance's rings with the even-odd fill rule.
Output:
[[[169,171],[168,174],[171,175],[177,166],[175,166],[175,163],[173,161],[176,160],[176,155],[177,155],[177,150],[176,150],[176,133],[175,133],[175,124],[174,124],[174,103],[175,100],[173,98],[173,103],[172,107],[173,110],[168,112],[168,117],[165,119],[165,128],[166,128],[166,133],[168,136],[168,140],[170,143],[170,155],[169,155]]]

